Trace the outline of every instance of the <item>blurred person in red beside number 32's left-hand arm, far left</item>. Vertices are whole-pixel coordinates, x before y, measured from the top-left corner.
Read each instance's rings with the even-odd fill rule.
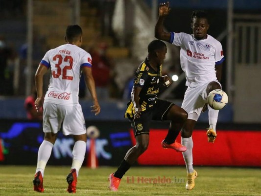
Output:
[[[24,109],[26,110],[28,120],[43,120],[43,108],[37,112],[34,106],[36,98],[37,93],[33,87],[32,94],[24,100]]]

